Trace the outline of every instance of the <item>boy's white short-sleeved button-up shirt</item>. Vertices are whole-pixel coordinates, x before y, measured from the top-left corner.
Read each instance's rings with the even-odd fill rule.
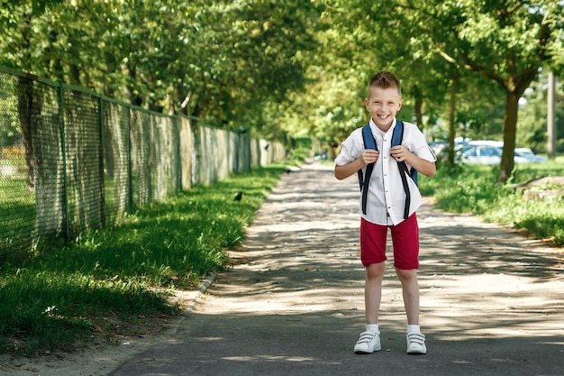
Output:
[[[368,222],[376,225],[397,225],[404,221],[405,191],[400,176],[397,162],[390,156],[392,147],[392,134],[396,128],[396,119],[394,123],[384,133],[380,131],[378,126],[370,119],[370,129],[376,140],[376,145],[380,155],[370,176],[368,185],[367,214],[362,213],[362,198],[359,200],[359,213]],[[404,122],[404,138],[402,145],[408,151],[413,152],[417,157],[423,160],[433,162],[436,160],[431,148],[425,142],[423,133],[417,128],[417,125]],[[350,136],[342,142],[342,149],[335,163],[339,166],[350,163],[360,158],[364,150],[364,141],[362,139],[362,128],[355,129]],[[411,165],[407,164],[411,169]],[[362,168],[362,172],[366,176],[366,166]],[[419,188],[413,179],[407,179],[411,192],[411,204],[409,206],[409,215],[414,214],[415,210],[421,206],[423,199]]]

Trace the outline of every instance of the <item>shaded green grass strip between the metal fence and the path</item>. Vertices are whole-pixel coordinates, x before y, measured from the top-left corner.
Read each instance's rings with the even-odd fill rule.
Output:
[[[244,240],[286,168],[273,164],[193,188],[139,208],[114,229],[80,234],[67,245],[47,241],[26,260],[5,262],[0,353],[69,350],[93,335],[113,341],[143,320],[176,315],[171,291],[228,267],[226,250]]]

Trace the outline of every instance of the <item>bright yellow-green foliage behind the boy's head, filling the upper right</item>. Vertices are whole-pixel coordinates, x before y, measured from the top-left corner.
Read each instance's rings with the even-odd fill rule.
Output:
[[[517,101],[541,67],[554,68],[564,55],[561,2],[384,0],[375,5],[367,0],[334,0],[329,4],[327,18],[332,26],[318,35],[334,48],[323,46],[323,54],[317,52],[323,61],[311,69],[313,77],[320,77],[316,81],[324,84],[324,91],[315,91],[323,94],[317,108],[327,109],[321,112],[327,115],[324,122],[308,120],[317,138],[341,139],[339,131],[359,126],[362,116],[355,110],[362,108],[359,98],[364,96],[362,87],[369,73],[391,69],[405,86],[399,116],[430,129],[431,137],[504,139],[499,178],[510,177]],[[330,67],[325,61],[332,61]],[[332,96],[333,87],[346,95]],[[455,97],[450,97],[451,90]],[[342,125],[336,129],[336,124]],[[538,143],[540,138],[534,134],[530,140]]]

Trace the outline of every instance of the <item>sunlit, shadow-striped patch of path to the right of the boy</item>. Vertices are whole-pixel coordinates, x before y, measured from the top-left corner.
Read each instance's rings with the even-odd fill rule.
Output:
[[[473,216],[419,218],[422,321],[437,340],[562,334],[561,250]]]

